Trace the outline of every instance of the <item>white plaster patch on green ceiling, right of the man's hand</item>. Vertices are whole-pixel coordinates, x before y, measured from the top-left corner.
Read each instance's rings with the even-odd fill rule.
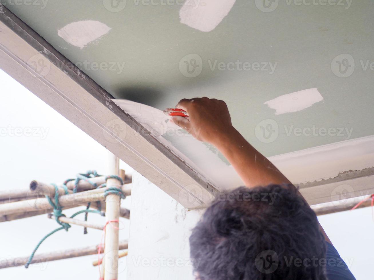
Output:
[[[323,99],[317,88],[309,88],[307,90],[284,94],[266,101],[264,104],[275,109],[275,115],[281,115],[304,110]]]

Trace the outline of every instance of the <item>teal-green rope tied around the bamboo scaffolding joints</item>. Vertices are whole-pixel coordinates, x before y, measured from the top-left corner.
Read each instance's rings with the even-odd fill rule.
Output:
[[[95,183],[93,183],[92,181],[89,180],[89,178],[98,177],[98,176],[101,176],[101,175],[98,175],[97,172],[95,170],[93,170],[93,171],[87,171],[87,173],[85,173],[85,174],[82,174],[82,173],[78,174],[76,179],[68,179],[68,180],[64,181],[64,183],[62,184],[62,187],[65,191],[65,195],[68,194],[67,183],[70,182],[70,181],[74,181],[74,180],[75,180],[74,190],[73,190],[74,193],[77,191],[77,186],[78,186],[79,180],[85,180],[85,181],[89,182],[92,186],[96,187],[96,189],[106,187],[107,184],[105,184],[105,183],[101,184],[100,186],[97,187]],[[105,180],[108,180],[109,178],[117,179],[121,182],[121,185],[123,184],[122,179],[120,177],[116,176],[116,175],[109,175],[109,176],[105,177]],[[59,225],[61,225],[61,227],[56,228],[55,230],[52,230],[50,233],[48,233],[46,236],[44,236],[42,238],[42,240],[39,241],[39,243],[36,245],[33,252],[31,253],[30,258],[28,259],[27,263],[25,264],[25,268],[29,267],[29,265],[31,264],[31,261],[34,258],[35,252],[37,251],[37,249],[43,243],[44,240],[46,240],[49,236],[51,236],[53,233],[56,233],[57,231],[60,231],[62,229],[68,231],[69,228],[71,227],[70,224],[63,223],[63,222],[58,220],[59,217],[62,217],[62,216],[66,217],[66,216],[64,214],[62,214],[62,207],[61,207],[61,205],[59,203],[59,200],[58,200],[59,199],[58,186],[56,186],[55,184],[52,184],[52,186],[55,187],[54,201],[49,196],[46,196],[46,198],[47,198],[49,204],[53,207],[53,215],[55,216],[56,222]],[[124,199],[126,197],[123,194],[122,190],[117,188],[117,187],[110,187],[107,190],[105,190],[104,197],[107,197],[107,195],[109,195],[109,194],[118,195],[122,199]],[[80,210],[78,212],[75,212],[73,215],[70,216],[70,218],[74,218],[76,215],[79,215],[79,214],[82,214],[82,213],[85,213],[85,221],[87,221],[87,214],[88,213],[96,213],[96,214],[101,214],[102,216],[104,216],[105,214],[103,212],[101,212],[101,204],[100,204],[100,202],[98,202],[98,203],[99,203],[99,209],[98,210],[90,210],[89,209],[89,207],[91,206],[91,202],[90,202],[90,203],[88,203],[87,208],[85,210]],[[85,228],[84,233],[85,234],[87,233],[86,228]]]

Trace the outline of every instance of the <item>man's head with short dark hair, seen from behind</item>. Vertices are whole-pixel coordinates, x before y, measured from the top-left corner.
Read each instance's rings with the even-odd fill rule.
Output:
[[[200,280],[326,279],[324,236],[294,186],[218,195],[193,229],[190,249]]]

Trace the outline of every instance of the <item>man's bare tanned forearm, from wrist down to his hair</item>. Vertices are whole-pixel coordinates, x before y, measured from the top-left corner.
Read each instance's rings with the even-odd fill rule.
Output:
[[[247,187],[289,184],[290,181],[235,129],[224,131],[213,143],[232,164]]]

